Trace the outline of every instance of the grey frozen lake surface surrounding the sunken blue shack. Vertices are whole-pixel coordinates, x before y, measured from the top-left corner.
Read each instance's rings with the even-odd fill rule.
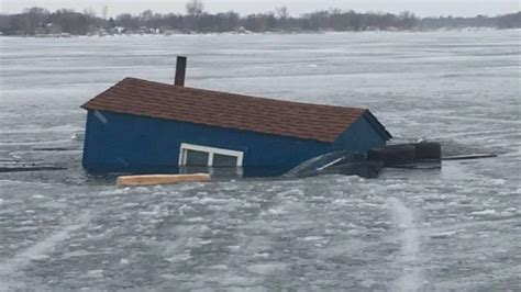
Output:
[[[520,31],[0,38],[0,290],[519,290]],[[126,76],[367,106],[441,170],[117,189],[84,102]]]

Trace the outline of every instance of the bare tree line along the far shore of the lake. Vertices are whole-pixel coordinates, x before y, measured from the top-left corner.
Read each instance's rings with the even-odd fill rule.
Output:
[[[234,11],[208,13],[200,0],[186,4],[185,14],[143,11],[138,15],[120,14],[107,19],[107,7],[101,16],[91,10],[76,12],[60,9],[49,12],[43,8],[30,8],[19,14],[0,15],[3,35],[38,35],[66,33],[212,33],[212,32],[318,32],[318,31],[370,31],[370,30],[437,30],[457,27],[521,27],[521,12],[488,18],[417,18],[410,12],[358,13],[353,10],[329,9],[293,18],[287,7],[275,11],[240,15]]]

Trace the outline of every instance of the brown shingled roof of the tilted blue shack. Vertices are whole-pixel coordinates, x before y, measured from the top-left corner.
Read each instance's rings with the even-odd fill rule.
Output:
[[[82,105],[226,128],[334,142],[366,110],[271,100],[125,78]]]

